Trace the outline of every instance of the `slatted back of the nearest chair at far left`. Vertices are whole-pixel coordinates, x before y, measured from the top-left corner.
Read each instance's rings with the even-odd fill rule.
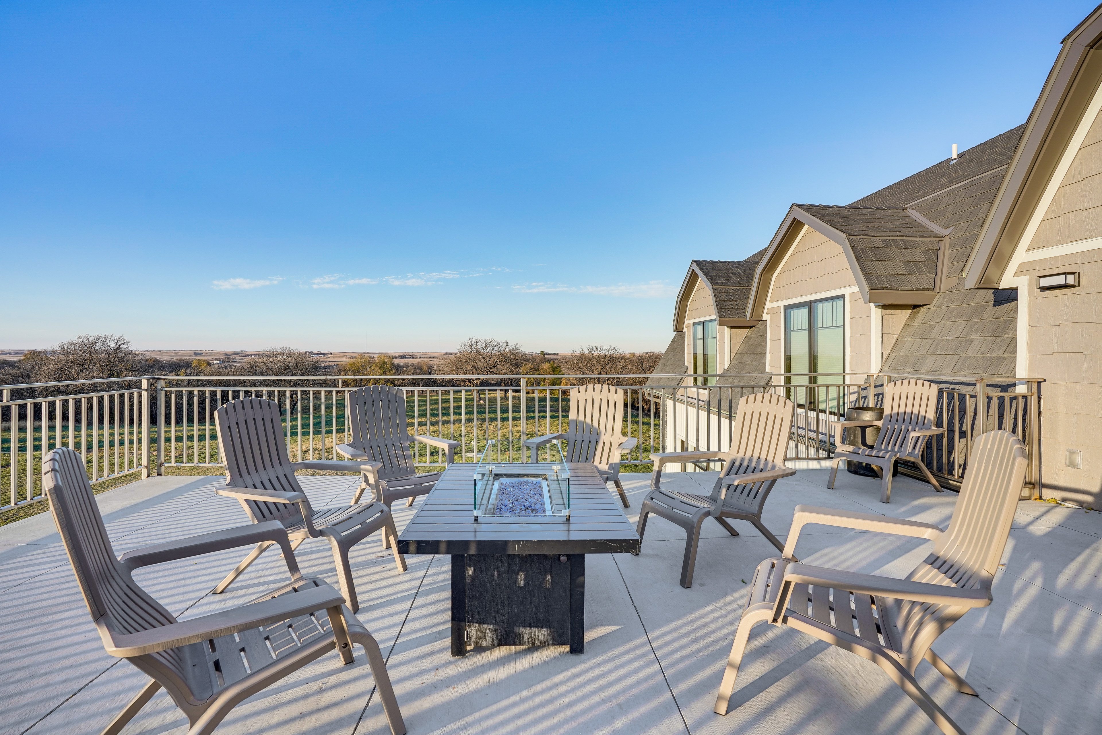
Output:
[[[176,618],[145,594],[116,558],[84,458],[68,447],[53,450],[42,463],[42,485],[91,619],[120,634],[175,623]],[[161,681],[177,701],[183,695],[192,703],[202,702],[210,695],[206,691],[209,679],[205,669],[195,675],[187,659],[187,649],[176,648],[130,660]]]

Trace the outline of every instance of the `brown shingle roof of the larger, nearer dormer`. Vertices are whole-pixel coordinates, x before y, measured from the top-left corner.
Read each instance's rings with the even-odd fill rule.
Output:
[[[869,289],[933,291],[942,234],[906,209],[796,204],[846,236],[857,268]]]

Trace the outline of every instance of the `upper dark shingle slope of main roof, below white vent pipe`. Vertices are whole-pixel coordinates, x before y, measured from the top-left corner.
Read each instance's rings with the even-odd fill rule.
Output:
[[[850,206],[869,207],[903,207],[937,194],[951,186],[957,186],[969,179],[987,173],[993,169],[1004,166],[1014,156],[1014,149],[1022,139],[1026,126],[1019,125],[1013,130],[985,140],[959,154],[957,161],[946,159],[934,163],[929,169],[907,176],[878,192],[862,197]]]

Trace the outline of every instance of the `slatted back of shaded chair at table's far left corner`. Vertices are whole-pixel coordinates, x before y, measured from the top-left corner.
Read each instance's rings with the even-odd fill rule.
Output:
[[[364,452],[367,462],[381,462],[379,479],[407,477],[417,473],[410,453],[406,393],[393,386],[368,386],[348,393],[352,446]]]

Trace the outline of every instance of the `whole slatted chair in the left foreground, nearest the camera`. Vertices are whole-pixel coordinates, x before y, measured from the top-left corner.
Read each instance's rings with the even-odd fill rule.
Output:
[[[152,679],[102,735],[121,731],[162,687],[187,716],[188,735],[206,735],[238,703],[333,649],[350,663],[353,644],[367,652],[390,731],[406,733],[379,644],[336,590],[300,574],[291,540],[278,522],[194,536],[116,559],[84,458],[66,447],[50,452],[42,484],[104,648]],[[140,566],[258,542],[283,549],[291,582],[220,613],[177,620],[131,576]]]

